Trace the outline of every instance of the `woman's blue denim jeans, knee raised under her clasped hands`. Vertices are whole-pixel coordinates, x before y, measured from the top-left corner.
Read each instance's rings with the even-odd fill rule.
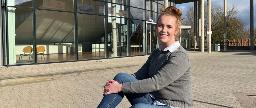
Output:
[[[135,82],[138,81],[136,78],[127,73],[118,73],[113,79],[117,82]],[[143,94],[125,94],[123,92],[119,92],[117,94],[108,94],[103,97],[100,104],[97,108],[114,108],[116,107],[123,99],[123,97],[127,97],[128,101],[131,103],[131,108],[166,108],[168,106],[158,106],[152,105],[154,99],[150,97],[149,93]]]

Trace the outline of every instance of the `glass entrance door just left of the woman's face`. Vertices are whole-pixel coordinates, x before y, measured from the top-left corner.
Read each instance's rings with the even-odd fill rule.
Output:
[[[156,24],[147,23],[147,55],[150,55],[155,49],[159,47],[155,31]]]

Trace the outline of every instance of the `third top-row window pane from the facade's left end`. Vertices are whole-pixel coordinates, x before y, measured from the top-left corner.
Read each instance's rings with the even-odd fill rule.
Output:
[[[77,12],[80,13],[91,13],[91,14],[103,14],[104,2],[93,1],[93,0],[78,0],[77,1]]]

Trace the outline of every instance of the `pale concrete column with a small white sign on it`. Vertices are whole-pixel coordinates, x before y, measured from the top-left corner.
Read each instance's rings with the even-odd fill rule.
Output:
[[[212,30],[212,6],[211,6],[211,0],[208,0],[208,30]],[[208,42],[207,42],[207,49],[208,53],[212,53],[212,34],[208,34]]]

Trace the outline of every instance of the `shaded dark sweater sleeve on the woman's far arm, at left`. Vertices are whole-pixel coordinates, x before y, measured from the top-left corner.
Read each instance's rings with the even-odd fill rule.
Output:
[[[150,66],[150,58],[151,58],[151,55],[148,57],[148,60],[146,61],[146,63],[144,63],[144,65],[137,72],[135,72],[134,74],[131,74],[137,80],[143,80],[143,79],[149,78],[148,69]]]

